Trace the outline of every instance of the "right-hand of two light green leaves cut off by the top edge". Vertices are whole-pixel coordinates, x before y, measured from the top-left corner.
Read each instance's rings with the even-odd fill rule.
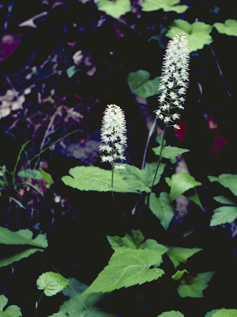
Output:
[[[143,11],[156,11],[163,9],[164,11],[175,11],[183,13],[188,9],[187,5],[175,5],[180,0],[145,0],[142,4]]]

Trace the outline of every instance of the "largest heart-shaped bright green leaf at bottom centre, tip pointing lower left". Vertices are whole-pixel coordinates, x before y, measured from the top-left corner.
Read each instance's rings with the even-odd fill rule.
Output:
[[[107,266],[83,294],[112,292],[121,287],[143,284],[158,279],[164,271],[150,268],[160,261],[156,250],[132,250],[115,252]]]

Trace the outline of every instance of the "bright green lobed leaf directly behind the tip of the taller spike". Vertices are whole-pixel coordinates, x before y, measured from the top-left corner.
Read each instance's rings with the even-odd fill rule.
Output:
[[[196,21],[193,24],[181,19],[174,20],[166,36],[173,38],[176,34],[184,32],[189,41],[189,51],[201,50],[205,44],[210,44],[213,40],[210,36],[212,25]]]

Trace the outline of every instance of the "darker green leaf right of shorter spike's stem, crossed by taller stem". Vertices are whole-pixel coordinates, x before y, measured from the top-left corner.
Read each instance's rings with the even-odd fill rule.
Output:
[[[118,164],[119,165],[119,164]],[[156,167],[152,164],[146,163],[144,169],[139,169],[136,166],[123,164],[125,169],[118,169],[118,174],[129,184],[130,191],[133,192],[151,192],[153,178],[155,175]],[[158,173],[154,185],[158,184],[160,176],[164,171],[165,164],[160,163]]]

